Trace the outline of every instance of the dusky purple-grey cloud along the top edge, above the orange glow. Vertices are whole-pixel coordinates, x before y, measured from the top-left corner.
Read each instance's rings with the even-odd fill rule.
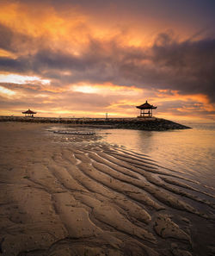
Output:
[[[20,2],[38,4],[36,0],[20,0]],[[129,19],[143,23],[153,19],[160,22],[165,21],[169,27],[176,24],[177,27],[194,28],[197,25],[198,29],[209,24],[214,33],[215,3],[212,0],[44,0],[44,2],[52,5],[55,9],[79,7],[90,16],[99,16],[101,22],[104,17],[106,21],[113,22],[114,20],[118,24],[120,21],[130,22]]]

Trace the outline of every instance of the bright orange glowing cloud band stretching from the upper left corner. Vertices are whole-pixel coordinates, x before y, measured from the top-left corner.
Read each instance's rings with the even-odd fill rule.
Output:
[[[81,6],[72,4],[56,9],[49,2],[0,3],[0,23],[16,33],[30,36],[35,41],[42,40],[43,46],[50,45],[52,41],[53,48],[64,48],[64,51],[70,53],[79,54],[90,38],[101,41],[116,40],[122,47],[146,46],[153,41],[149,24],[144,27],[143,34],[129,21],[125,20],[125,26],[114,24],[111,20],[102,22],[99,19]],[[146,34],[149,34],[147,38]],[[40,42],[37,41],[37,44]]]

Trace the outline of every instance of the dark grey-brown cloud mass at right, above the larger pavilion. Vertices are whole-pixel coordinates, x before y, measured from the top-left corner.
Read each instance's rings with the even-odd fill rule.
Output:
[[[174,41],[167,34],[152,47],[152,61],[163,70],[163,85],[182,94],[206,94],[215,102],[215,40]]]

